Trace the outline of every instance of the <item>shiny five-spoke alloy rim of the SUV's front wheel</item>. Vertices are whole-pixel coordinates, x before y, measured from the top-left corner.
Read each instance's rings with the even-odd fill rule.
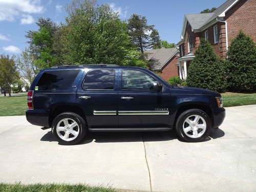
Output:
[[[183,122],[183,131],[190,138],[199,138],[206,131],[206,121],[200,115],[190,115]]]

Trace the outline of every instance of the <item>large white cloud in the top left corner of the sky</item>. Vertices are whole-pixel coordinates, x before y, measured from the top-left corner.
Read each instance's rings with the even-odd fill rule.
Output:
[[[0,21],[12,22],[23,13],[42,13],[45,8],[40,0],[0,0]]]

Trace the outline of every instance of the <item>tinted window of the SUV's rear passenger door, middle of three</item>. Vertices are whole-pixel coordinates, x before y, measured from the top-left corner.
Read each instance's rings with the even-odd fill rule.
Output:
[[[114,70],[93,70],[88,72],[83,82],[84,89],[114,89]]]

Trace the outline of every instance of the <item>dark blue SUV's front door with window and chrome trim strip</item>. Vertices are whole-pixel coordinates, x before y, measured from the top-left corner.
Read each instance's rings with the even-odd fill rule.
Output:
[[[121,69],[120,69],[121,70]],[[119,126],[168,127],[169,89],[152,90],[154,76],[140,70],[121,70],[118,94]]]

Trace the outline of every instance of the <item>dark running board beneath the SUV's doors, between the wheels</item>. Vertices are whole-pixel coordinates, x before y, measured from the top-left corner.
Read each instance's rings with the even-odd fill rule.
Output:
[[[141,131],[170,131],[170,127],[156,127],[156,128],[89,128],[91,132],[141,132]]]

